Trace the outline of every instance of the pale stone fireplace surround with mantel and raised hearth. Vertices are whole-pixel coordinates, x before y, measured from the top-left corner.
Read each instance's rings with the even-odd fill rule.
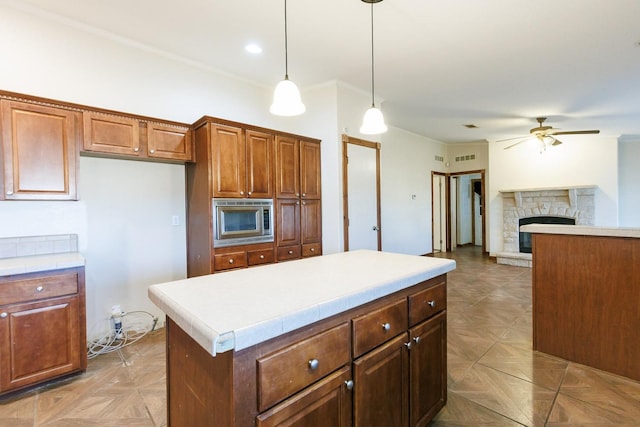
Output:
[[[573,218],[576,225],[594,225],[596,186],[501,190],[503,251],[498,264],[531,267],[532,255],[520,252],[520,218],[559,216]]]

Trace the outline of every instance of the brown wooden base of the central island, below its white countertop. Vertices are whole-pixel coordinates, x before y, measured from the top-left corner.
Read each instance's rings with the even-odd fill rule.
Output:
[[[169,426],[424,427],[446,403],[445,275],[215,357],[167,333]]]

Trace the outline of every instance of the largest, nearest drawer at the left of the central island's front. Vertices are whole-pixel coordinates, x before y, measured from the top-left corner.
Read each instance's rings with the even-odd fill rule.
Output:
[[[258,410],[264,411],[347,363],[348,323],[258,359]]]

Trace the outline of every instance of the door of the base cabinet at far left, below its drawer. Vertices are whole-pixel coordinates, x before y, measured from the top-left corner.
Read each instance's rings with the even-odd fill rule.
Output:
[[[78,296],[4,306],[0,312],[0,392],[81,369]]]

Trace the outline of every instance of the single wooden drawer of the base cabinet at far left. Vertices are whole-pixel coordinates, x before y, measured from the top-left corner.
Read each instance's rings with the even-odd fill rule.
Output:
[[[12,280],[0,283],[0,305],[78,293],[76,273]]]

